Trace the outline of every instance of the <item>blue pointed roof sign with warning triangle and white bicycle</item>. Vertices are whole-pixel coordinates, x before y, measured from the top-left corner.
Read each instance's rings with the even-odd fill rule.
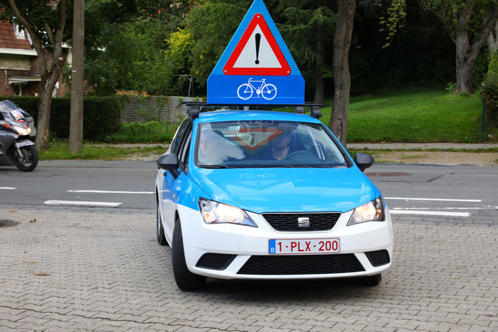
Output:
[[[254,0],[209,76],[208,104],[304,104],[303,76],[263,0]]]

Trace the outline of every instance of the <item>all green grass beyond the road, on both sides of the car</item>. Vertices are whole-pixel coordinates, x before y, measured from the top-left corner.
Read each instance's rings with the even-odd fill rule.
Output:
[[[320,119],[330,118],[328,99]],[[283,111],[294,111],[292,109]],[[423,90],[359,95],[351,99],[348,142],[488,142],[497,129],[481,128],[482,100],[474,95],[452,95],[447,91]],[[132,122],[121,124],[116,133],[87,142],[80,154],[69,154],[69,142],[53,138],[42,159],[119,159],[137,154],[166,151],[179,123]],[[496,139],[495,139],[496,141]],[[123,143],[151,146],[120,147]],[[476,150],[479,152],[482,150]],[[492,151],[492,150],[490,150]]]

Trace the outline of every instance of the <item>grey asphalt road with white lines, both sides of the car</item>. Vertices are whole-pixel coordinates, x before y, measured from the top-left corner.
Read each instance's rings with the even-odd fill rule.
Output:
[[[393,219],[498,224],[498,167],[377,164],[366,175]],[[0,167],[0,206],[155,213],[154,161],[42,161],[34,172]]]

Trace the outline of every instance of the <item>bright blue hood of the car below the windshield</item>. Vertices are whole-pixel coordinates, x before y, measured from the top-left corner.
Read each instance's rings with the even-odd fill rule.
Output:
[[[357,169],[195,169],[208,199],[256,213],[347,212],[380,193]]]

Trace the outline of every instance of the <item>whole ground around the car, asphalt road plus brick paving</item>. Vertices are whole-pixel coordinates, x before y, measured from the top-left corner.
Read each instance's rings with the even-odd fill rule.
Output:
[[[182,292],[156,241],[153,162],[0,167],[0,331],[498,331],[498,167],[366,173],[394,219],[379,286],[208,279]]]

